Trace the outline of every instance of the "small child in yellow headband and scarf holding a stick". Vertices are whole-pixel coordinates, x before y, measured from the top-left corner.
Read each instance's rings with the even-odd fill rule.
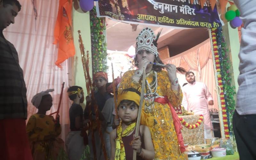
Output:
[[[140,92],[134,88],[123,90],[117,96],[117,105],[121,122],[110,133],[110,159],[130,160],[133,156],[133,150],[137,152],[137,160],[154,159],[154,146],[148,127],[140,125],[139,136],[134,137],[140,105]]]

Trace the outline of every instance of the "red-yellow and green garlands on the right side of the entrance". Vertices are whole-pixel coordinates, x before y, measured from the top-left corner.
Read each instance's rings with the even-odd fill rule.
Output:
[[[225,137],[229,139],[233,135],[232,116],[235,110],[233,98],[235,87],[231,84],[230,63],[226,54],[225,37],[222,34],[222,27],[212,28],[212,42],[217,70],[218,86],[220,87],[220,102],[223,116]]]

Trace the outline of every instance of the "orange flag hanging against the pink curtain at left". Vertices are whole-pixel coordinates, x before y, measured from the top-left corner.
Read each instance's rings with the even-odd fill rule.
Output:
[[[54,42],[59,43],[58,59],[55,64],[60,63],[75,55],[75,46],[72,36],[72,0],[60,0],[59,11],[54,28]]]

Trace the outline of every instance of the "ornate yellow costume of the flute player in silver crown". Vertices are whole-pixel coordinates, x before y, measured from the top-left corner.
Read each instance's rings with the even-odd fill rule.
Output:
[[[135,88],[141,92],[141,81],[139,83],[133,81],[132,76],[135,70],[127,71],[122,77],[122,81],[118,88],[118,93],[126,88]],[[141,78],[142,79],[142,78]],[[154,72],[151,71],[147,74],[146,89],[144,93],[147,96],[149,91],[149,86],[151,89],[156,85],[156,92],[154,95],[167,96],[173,107],[177,107],[181,104],[182,91],[173,91],[171,89],[171,83],[168,78],[166,71]],[[152,85],[151,85],[152,84]],[[152,90],[151,90],[152,91]],[[150,97],[150,94],[148,94]],[[145,98],[145,97],[144,97]],[[160,104],[158,102],[153,102],[152,99],[144,99],[144,111],[150,116],[153,116],[156,124],[153,127],[149,127],[151,132],[152,141],[155,148],[155,158],[154,159],[185,159],[183,154],[180,154],[178,139],[176,131],[174,129],[172,113],[168,104]]]

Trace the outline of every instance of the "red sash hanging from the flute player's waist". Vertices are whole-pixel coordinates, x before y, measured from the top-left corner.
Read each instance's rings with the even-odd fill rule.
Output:
[[[174,108],[172,107],[172,104],[169,102],[167,96],[164,96],[164,98],[162,97],[158,97],[154,100],[155,102],[161,103],[161,104],[168,104],[172,113],[172,119],[173,119],[173,124],[174,124],[174,128],[177,134],[177,138],[178,138],[178,143],[180,145],[180,151],[181,153],[185,152],[185,146],[184,146],[184,141],[183,141],[183,137],[181,134],[181,130],[182,126],[180,124],[180,120],[179,117],[177,115],[177,113],[175,112]]]

